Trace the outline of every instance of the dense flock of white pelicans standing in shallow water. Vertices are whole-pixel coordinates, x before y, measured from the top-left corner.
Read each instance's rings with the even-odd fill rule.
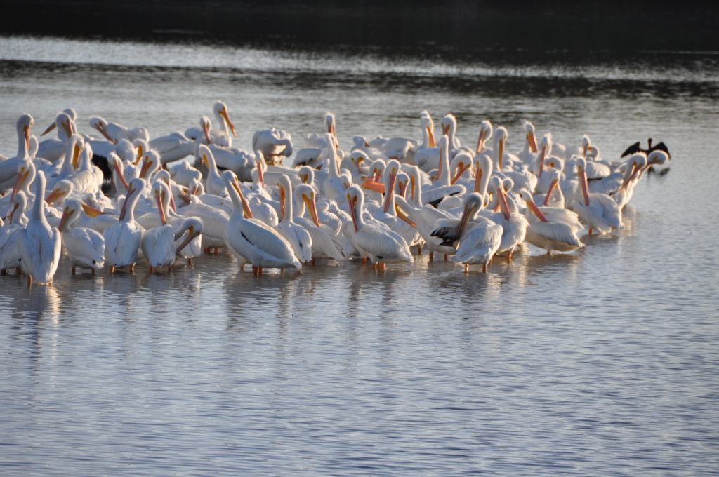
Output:
[[[452,114],[435,139],[427,111],[421,141],[354,136],[345,150],[327,113],[301,149],[268,129],[245,151],[233,147],[227,106],[218,101],[213,113],[219,129],[201,116],[198,127],[150,139],[100,117],[89,121],[96,134],[79,134],[67,109],[42,134],[57,136],[40,141],[22,114],[17,155],[0,157],[0,273],[50,284],[63,250],[73,274],[142,261],[152,273],[224,248],[255,274],[318,258],[383,268],[412,262],[413,247],[486,272],[525,242],[567,252],[584,246],[585,231],[620,228],[637,182],[670,159],[653,150],[609,162],[589,136],[538,140],[528,121],[516,152],[507,129],[487,120],[468,147]]]

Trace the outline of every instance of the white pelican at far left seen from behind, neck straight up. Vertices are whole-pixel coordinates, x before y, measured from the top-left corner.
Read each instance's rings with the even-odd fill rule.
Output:
[[[50,227],[45,218],[46,181],[42,172],[37,173],[35,183],[35,203],[20,238],[22,269],[27,273],[28,282],[51,284],[62,253],[60,231]]]

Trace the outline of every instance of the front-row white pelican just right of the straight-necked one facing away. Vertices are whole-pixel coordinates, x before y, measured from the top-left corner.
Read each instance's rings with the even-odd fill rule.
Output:
[[[60,218],[60,234],[63,245],[70,256],[73,275],[75,268],[91,269],[92,274],[105,264],[105,239],[91,228],[73,227],[80,218],[82,205],[77,199],[65,200],[63,216]]]

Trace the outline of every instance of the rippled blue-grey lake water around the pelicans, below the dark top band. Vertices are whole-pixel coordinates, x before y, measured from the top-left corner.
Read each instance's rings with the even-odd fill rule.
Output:
[[[132,25],[130,25],[132,27]],[[334,111],[419,137],[452,111],[618,159],[664,141],[626,227],[489,273],[323,263],[284,277],[229,255],[52,287],[0,279],[0,474],[710,475],[719,469],[719,55],[451,57],[0,38],[0,152],[73,106],[167,134],[221,98],[249,149]]]

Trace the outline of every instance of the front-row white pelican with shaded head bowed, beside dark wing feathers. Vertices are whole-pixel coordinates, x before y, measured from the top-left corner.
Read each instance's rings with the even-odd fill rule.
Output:
[[[503,227],[480,217],[472,228],[466,230],[470,219],[477,217],[484,205],[484,197],[478,193],[468,194],[464,199],[464,210],[459,221],[459,246],[452,257],[457,264],[464,264],[467,272],[470,265],[482,264],[482,272],[492,261],[502,243]]]

